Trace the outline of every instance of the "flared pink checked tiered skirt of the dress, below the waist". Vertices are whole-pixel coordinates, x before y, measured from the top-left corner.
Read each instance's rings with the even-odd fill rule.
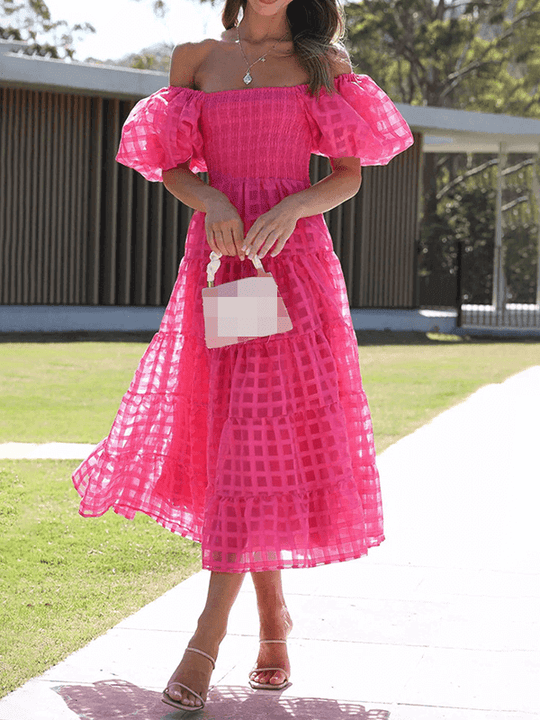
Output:
[[[293,329],[204,340],[210,248],[195,213],[154,335],[110,433],[72,479],[80,514],[143,512],[202,544],[218,572],[342,562],[384,540],[368,401],[343,272],[322,215],[301,218],[271,272]],[[256,275],[223,256],[221,284]]]

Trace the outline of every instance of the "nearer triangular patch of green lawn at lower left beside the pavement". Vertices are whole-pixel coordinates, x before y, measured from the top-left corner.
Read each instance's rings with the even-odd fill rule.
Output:
[[[201,569],[145,515],[78,515],[79,462],[0,460],[0,696]]]

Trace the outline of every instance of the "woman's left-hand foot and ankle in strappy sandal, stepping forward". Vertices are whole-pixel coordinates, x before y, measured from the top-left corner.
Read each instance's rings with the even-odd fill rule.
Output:
[[[216,628],[197,628],[195,634],[188,643],[188,647],[202,650],[211,655],[214,660],[219,652],[219,645],[226,632],[219,632]],[[184,652],[184,657],[180,665],[171,675],[167,686],[172,682],[181,682],[187,685],[196,693],[198,693],[206,702],[208,686],[210,685],[210,677],[213,671],[212,663],[208,658],[194,652]],[[168,695],[172,700],[180,702],[186,707],[197,707],[201,705],[199,698],[195,697],[185,688],[174,685],[168,690]]]

